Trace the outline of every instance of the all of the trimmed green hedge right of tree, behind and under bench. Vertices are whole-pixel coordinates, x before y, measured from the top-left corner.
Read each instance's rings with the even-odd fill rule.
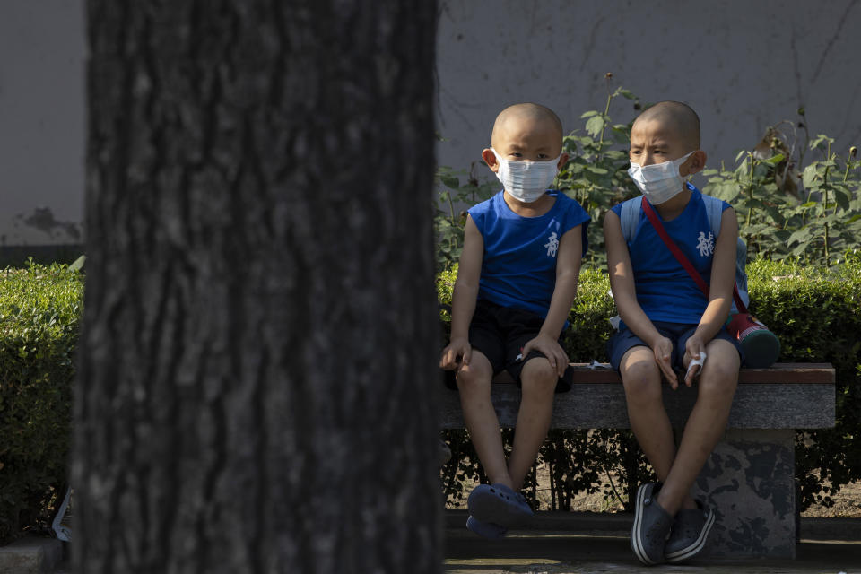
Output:
[[[861,257],[851,255],[830,270],[789,261],[754,261],[747,268],[752,312],[778,334],[781,362],[831,362],[837,370],[837,426],[798,431],[796,479],[799,508],[814,502],[828,506],[829,495],[861,478]],[[450,303],[457,274],[439,274],[439,300]],[[571,361],[607,361],[612,333],[607,318],[615,315],[607,275],[585,269],[578,298],[563,335]],[[443,321],[448,312],[442,312]],[[462,483],[480,477],[476,457],[463,432],[446,437],[455,456],[443,468],[448,500],[460,500]],[[552,431],[539,454],[550,466],[552,508],[570,508],[578,491],[603,489],[620,495],[648,479],[650,470],[627,431]],[[598,471],[614,470],[622,484],[604,483]],[[828,488],[820,480],[831,483]],[[526,491],[535,483],[528,483]]]

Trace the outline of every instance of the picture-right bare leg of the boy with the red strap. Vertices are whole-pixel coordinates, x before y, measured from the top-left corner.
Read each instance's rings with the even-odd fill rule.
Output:
[[[706,345],[709,359],[703,366],[697,402],[684,427],[679,452],[657,495],[658,503],[670,514],[683,508],[693,482],[700,474],[726,430],[726,420],[738,384],[739,357],[733,344],[713,339]]]

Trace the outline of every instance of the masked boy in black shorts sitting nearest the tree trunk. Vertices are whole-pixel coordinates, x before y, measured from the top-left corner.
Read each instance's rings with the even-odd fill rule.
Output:
[[[532,516],[520,495],[568,366],[559,337],[577,293],[588,214],[548,190],[561,166],[562,126],[531,103],[502,110],[482,157],[503,189],[469,210],[452,295],[451,342],[439,366],[457,370],[464,422],[491,484],[470,493],[467,527],[499,538]],[[506,463],[491,379],[507,370],[522,390]],[[564,389],[562,389],[564,390]]]

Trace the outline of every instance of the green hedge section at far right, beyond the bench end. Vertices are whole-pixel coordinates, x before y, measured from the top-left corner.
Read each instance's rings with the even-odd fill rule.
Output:
[[[798,505],[829,507],[831,493],[861,480],[861,255],[830,269],[757,260],[748,274],[752,311],[780,337],[780,361],[837,371],[836,426],[796,435]]]

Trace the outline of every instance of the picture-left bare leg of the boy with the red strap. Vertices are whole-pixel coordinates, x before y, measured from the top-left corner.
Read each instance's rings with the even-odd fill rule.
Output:
[[[664,408],[661,371],[655,362],[655,354],[645,346],[631,347],[622,355],[619,370],[622,373],[622,385],[625,387],[631,431],[649,464],[655,469],[658,480],[665,483],[676,457],[675,439],[673,427]],[[696,508],[687,492],[675,504],[676,508],[672,510],[663,503],[661,506],[671,515],[679,508]]]

